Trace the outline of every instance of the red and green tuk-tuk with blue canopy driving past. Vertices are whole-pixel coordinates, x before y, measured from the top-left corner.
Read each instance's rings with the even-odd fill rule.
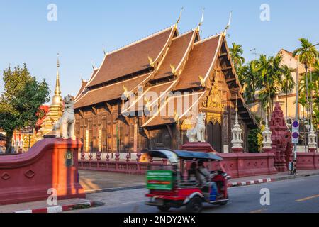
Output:
[[[157,206],[159,211],[186,206],[187,211],[198,213],[201,212],[203,202],[219,205],[228,203],[227,182],[230,177],[219,165],[223,158],[218,155],[167,149],[150,150],[147,155],[153,159],[167,159],[167,165],[148,167],[146,180],[147,189],[150,191],[145,196],[150,198],[150,201],[146,202],[147,205]],[[211,165],[209,169],[214,169],[206,185],[201,185],[198,179],[197,162],[204,162],[204,165]],[[218,192],[214,190],[216,187],[211,187],[211,182],[216,182]]]

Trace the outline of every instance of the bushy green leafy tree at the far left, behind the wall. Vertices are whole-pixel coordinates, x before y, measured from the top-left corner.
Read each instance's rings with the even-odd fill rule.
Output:
[[[26,64],[3,72],[4,93],[0,96],[0,128],[6,132],[6,153],[11,153],[13,131],[35,126],[42,110],[50,101],[50,90],[45,80],[38,82],[30,75]]]

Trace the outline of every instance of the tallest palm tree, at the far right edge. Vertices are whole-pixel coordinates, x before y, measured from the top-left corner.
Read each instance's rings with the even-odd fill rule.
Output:
[[[306,87],[308,87],[308,69],[310,68],[310,83],[312,83],[311,77],[311,65],[315,63],[315,60],[319,57],[318,50],[313,46],[312,43],[306,38],[300,38],[301,48],[297,48],[293,51],[293,57],[299,55],[299,60],[306,68]],[[313,90],[310,88],[310,114],[312,115],[312,103],[313,103]],[[309,101],[308,89],[306,89],[306,99]],[[309,109],[307,109],[307,118],[309,119]],[[309,120],[308,120],[309,121]]]

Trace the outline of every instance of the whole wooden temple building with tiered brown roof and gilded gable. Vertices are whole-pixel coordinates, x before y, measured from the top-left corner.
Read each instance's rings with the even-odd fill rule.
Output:
[[[242,97],[226,31],[205,39],[199,31],[179,34],[175,24],[106,53],[75,99],[76,135],[86,152],[180,148],[204,112],[206,141],[228,153],[236,102],[247,148],[257,122]]]

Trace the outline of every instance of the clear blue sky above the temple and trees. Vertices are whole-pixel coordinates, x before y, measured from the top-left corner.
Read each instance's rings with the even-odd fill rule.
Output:
[[[48,4],[57,5],[57,21],[47,21]],[[270,21],[261,21],[261,4],[269,4]],[[9,63],[28,68],[45,78],[53,91],[56,58],[60,52],[62,95],[75,95],[80,79],[89,79],[91,59],[96,66],[106,51],[172,25],[184,6],[179,31],[195,28],[205,7],[201,37],[225,28],[233,10],[228,44],[239,43],[247,60],[249,51],[275,55],[281,48],[294,50],[298,38],[319,43],[319,1],[16,1],[0,0],[0,70]],[[0,79],[0,92],[3,91]]]

